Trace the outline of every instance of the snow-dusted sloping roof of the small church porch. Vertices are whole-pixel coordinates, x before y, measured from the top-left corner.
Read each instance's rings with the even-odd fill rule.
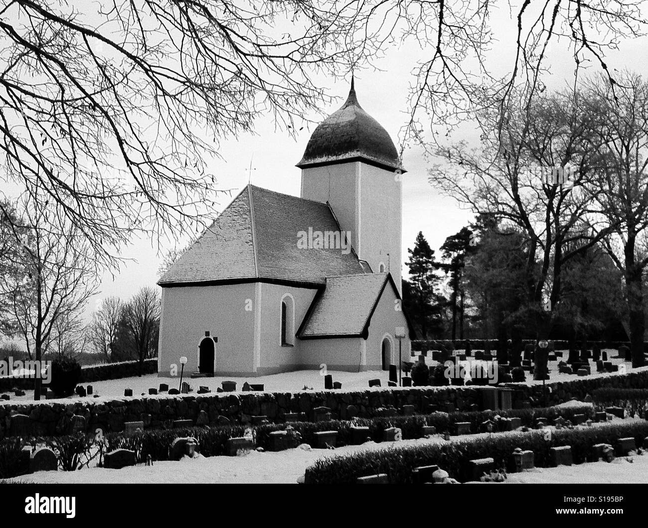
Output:
[[[327,277],[297,331],[300,339],[365,337],[385,287],[398,290],[389,273]],[[410,327],[410,334],[413,330]]]

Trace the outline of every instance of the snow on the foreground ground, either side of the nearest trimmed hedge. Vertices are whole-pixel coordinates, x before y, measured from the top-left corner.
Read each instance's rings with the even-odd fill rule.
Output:
[[[621,420],[615,418],[612,420],[615,423],[643,421],[639,419],[625,419]],[[609,424],[610,422],[608,422]],[[592,424],[592,427],[606,427],[606,424]],[[585,427],[585,426],[581,426]],[[553,426],[549,426],[553,430]],[[452,437],[450,442],[460,442],[478,437],[487,437],[493,435],[533,435],[542,434],[540,431],[528,431],[521,433],[520,431],[510,431],[505,433],[479,433],[477,435],[461,435]],[[402,447],[408,445],[424,445],[424,444],[437,444],[445,442],[440,435],[435,435],[429,438],[421,438],[416,440],[403,440],[400,442],[366,442],[360,446],[343,446],[335,450],[302,450],[301,448],[290,449],[277,453],[265,452],[259,453],[256,451],[249,452],[246,455],[238,457],[198,457],[195,459],[188,459],[185,457],[181,461],[159,461],[155,462],[153,466],[146,466],[139,464],[137,466],[122,468],[120,470],[111,470],[105,468],[97,468],[96,466],[84,468],[82,470],[73,472],[64,471],[48,471],[38,472],[15,479],[8,479],[6,481],[0,480],[0,483],[223,483],[223,484],[236,484],[236,483],[296,483],[299,477],[303,477],[306,468],[312,465],[315,461],[325,457],[335,457],[340,455],[347,455],[350,453],[362,452],[365,450],[382,450],[393,449],[395,447]],[[623,466],[621,470],[615,469],[607,463],[605,466],[596,464],[583,464],[579,466],[571,466],[568,470],[564,468],[543,468],[537,470],[529,470],[528,475],[515,476],[520,482],[526,482],[524,479],[529,479],[529,482],[535,482],[533,479],[542,479],[547,483],[563,483],[563,482],[596,482],[599,481],[599,475],[605,475],[605,480],[602,482],[642,482],[648,483],[648,455],[643,457],[634,457],[635,462],[639,462],[637,466]],[[616,462],[616,465],[621,464],[621,461]],[[594,475],[590,475],[590,468],[595,471]],[[606,469],[607,468],[607,469]],[[636,468],[636,471],[635,471]],[[628,472],[627,479],[624,471]],[[511,476],[513,478],[513,476]],[[567,480],[570,478],[572,480]],[[573,480],[575,479],[575,480]],[[581,480],[578,480],[581,479]],[[640,480],[641,479],[641,480]],[[512,480],[513,481],[513,480]],[[538,480],[540,481],[540,480]]]

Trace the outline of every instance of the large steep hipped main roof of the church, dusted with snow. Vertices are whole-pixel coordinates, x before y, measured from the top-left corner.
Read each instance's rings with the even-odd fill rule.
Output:
[[[325,277],[364,272],[353,249],[345,254],[299,247],[299,232],[309,227],[340,231],[328,204],[248,185],[158,284],[260,280],[319,286]]]

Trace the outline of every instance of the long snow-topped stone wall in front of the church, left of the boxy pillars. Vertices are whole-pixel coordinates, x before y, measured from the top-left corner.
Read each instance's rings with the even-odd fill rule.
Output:
[[[384,415],[388,407],[399,409],[391,409],[393,413],[402,413],[400,409],[405,405],[414,406],[418,413],[428,410],[429,405],[445,411],[448,404],[467,411],[472,405],[483,407],[483,390],[483,387],[376,387],[356,392],[210,393],[113,400],[75,398],[24,404],[8,401],[0,404],[0,437],[65,435],[75,430],[122,431],[124,422],[139,420],[145,422],[145,428],[172,427],[173,420],[192,420],[194,424],[211,426],[246,424],[251,422],[251,417],[262,415],[270,421],[283,422],[286,413],[304,413],[301,419],[312,420],[313,409],[322,406],[330,408],[332,419],[350,419],[352,415],[375,417]]]

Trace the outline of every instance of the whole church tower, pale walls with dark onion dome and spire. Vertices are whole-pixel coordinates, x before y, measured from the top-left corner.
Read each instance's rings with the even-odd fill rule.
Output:
[[[353,78],[343,106],[321,122],[297,163],[301,198],[328,202],[351,245],[402,294],[402,174],[389,133],[362,109]]]

